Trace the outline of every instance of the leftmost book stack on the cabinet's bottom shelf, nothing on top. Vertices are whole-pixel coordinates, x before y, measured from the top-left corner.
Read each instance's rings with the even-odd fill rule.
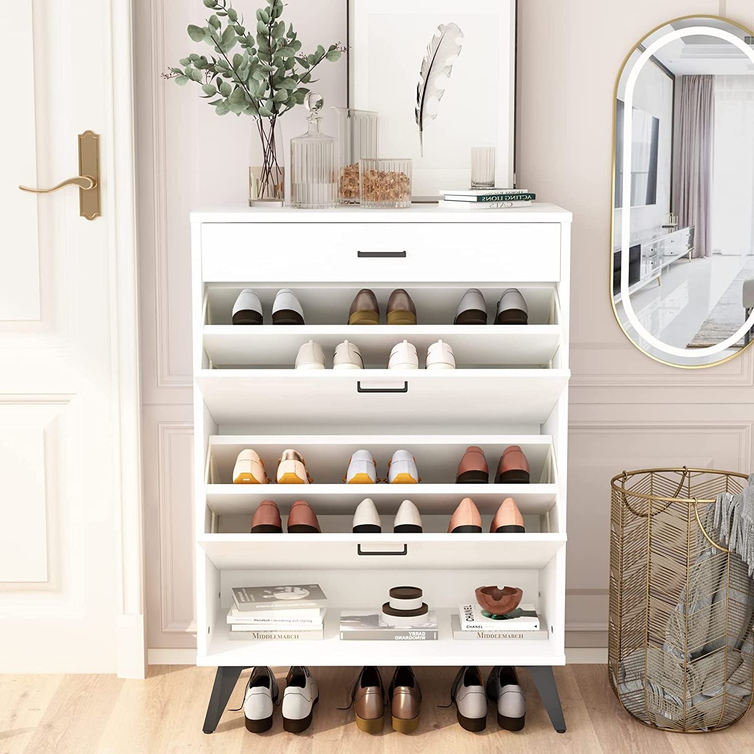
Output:
[[[246,641],[322,639],[327,606],[319,584],[235,587],[230,638]]]

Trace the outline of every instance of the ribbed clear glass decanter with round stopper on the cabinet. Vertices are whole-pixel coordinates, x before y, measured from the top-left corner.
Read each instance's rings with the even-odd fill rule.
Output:
[[[320,129],[324,100],[309,92],[304,106],[309,130],[290,140],[290,204],[299,210],[338,206],[337,141]]]

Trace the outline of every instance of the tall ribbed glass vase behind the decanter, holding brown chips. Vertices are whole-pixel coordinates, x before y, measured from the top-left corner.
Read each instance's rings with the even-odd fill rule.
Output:
[[[338,115],[338,201],[359,204],[359,161],[378,155],[379,114],[372,110],[333,107]]]

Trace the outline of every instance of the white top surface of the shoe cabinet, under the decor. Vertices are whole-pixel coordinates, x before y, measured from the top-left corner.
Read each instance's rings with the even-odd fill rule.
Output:
[[[192,222],[572,222],[572,214],[556,204],[535,202],[510,210],[448,210],[437,204],[415,204],[408,209],[267,210],[234,204],[203,207],[191,213]]]

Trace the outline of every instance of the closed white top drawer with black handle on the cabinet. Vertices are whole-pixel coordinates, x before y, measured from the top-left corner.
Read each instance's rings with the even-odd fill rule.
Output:
[[[204,223],[201,245],[210,282],[560,280],[553,222]]]

